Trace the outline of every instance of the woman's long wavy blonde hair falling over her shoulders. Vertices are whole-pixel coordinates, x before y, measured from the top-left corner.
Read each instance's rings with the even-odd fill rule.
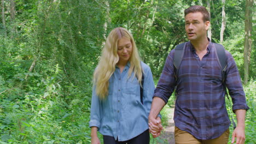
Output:
[[[132,43],[132,55],[129,59],[130,68],[128,76],[131,76],[132,71],[138,78],[139,83],[142,79],[142,68],[141,68],[141,58],[139,57],[138,49],[136,47],[135,41],[129,31],[123,27],[118,27],[113,29],[106,40],[106,44],[101,53],[100,62],[98,62],[97,68],[94,71],[94,86],[96,87],[96,94],[100,99],[107,98],[109,79],[115,71],[115,65],[119,61],[118,57],[118,40],[126,38],[131,40]]]

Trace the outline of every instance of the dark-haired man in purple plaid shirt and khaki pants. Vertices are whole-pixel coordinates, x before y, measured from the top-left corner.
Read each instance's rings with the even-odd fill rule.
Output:
[[[230,121],[225,107],[222,69],[219,67],[216,47],[207,38],[209,13],[205,7],[199,5],[185,9],[184,13],[185,31],[189,41],[185,43],[184,56],[177,74],[173,65],[175,50],[166,59],[149,114],[150,133],[154,137],[159,136],[161,124],[155,118],[176,87],[176,143],[228,143]],[[228,51],[225,51],[225,55],[225,86],[229,89],[232,110],[237,118],[232,143],[235,137],[236,143],[244,143],[245,115],[249,107],[234,58]]]

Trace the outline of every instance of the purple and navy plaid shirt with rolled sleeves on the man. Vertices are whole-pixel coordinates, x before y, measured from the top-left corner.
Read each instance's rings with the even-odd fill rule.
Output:
[[[225,106],[222,69],[217,60],[216,48],[210,41],[207,53],[200,61],[190,41],[186,43],[177,82],[174,76],[174,51],[172,50],[166,59],[154,97],[159,97],[167,103],[177,86],[175,126],[188,131],[197,139],[215,139],[230,125]],[[232,110],[248,110],[234,58],[228,51],[225,53],[228,63],[225,82],[232,98]]]

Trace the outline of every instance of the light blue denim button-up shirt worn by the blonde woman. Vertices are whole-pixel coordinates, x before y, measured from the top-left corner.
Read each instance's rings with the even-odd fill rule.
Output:
[[[97,127],[102,135],[113,136],[119,141],[130,140],[148,129],[155,85],[149,66],[143,62],[141,64],[144,71],[143,104],[136,76],[132,73],[128,77],[130,63],[127,63],[122,73],[116,67],[109,79],[106,100],[100,100],[93,88],[90,127]]]

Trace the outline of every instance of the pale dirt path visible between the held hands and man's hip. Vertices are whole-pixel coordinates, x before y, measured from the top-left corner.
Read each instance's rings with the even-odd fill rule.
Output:
[[[159,138],[163,140],[161,143],[175,144],[174,140],[174,121],[173,121],[173,112],[174,106],[166,107],[168,111],[168,125],[165,126]]]

